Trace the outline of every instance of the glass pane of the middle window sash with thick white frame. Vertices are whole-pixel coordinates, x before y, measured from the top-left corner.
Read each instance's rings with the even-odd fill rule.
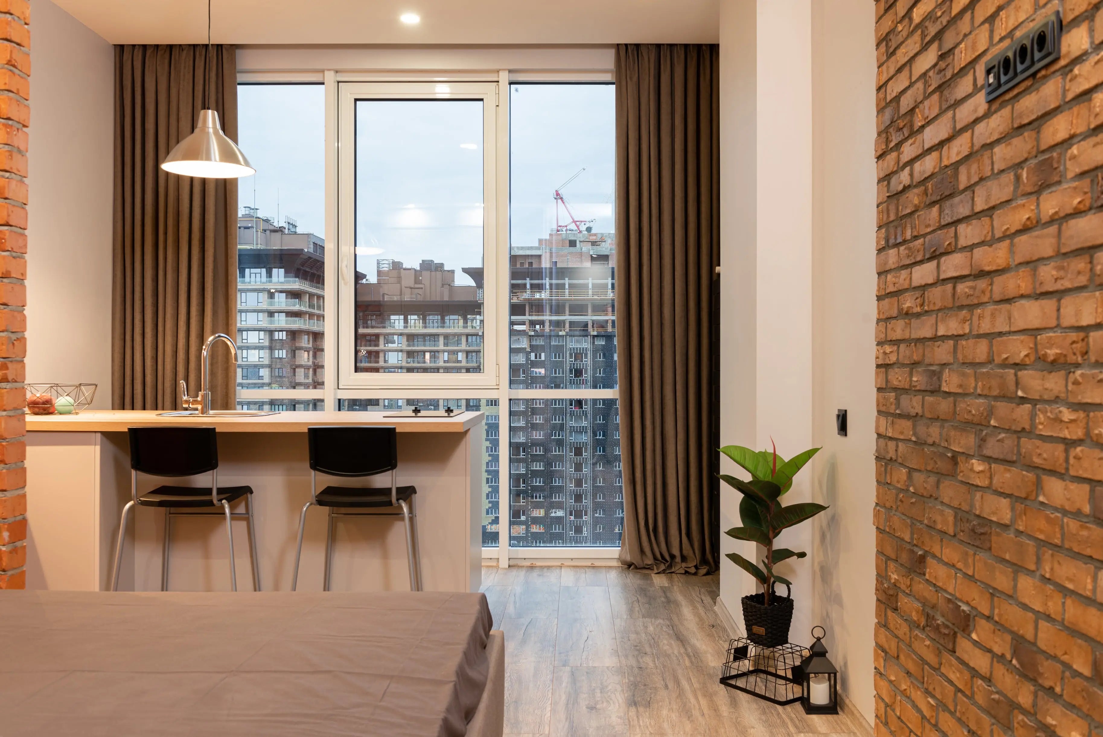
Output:
[[[483,104],[356,102],[356,371],[478,373]]]

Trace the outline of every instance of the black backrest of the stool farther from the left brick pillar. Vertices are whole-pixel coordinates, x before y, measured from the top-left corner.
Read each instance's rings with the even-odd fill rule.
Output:
[[[310,469],[328,476],[374,476],[398,467],[393,426],[307,427]]]

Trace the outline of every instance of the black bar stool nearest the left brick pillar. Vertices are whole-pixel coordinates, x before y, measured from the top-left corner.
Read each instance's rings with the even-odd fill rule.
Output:
[[[226,516],[226,537],[229,538],[229,582],[237,590],[234,570],[233,518],[245,518],[249,530],[249,556],[253,559],[253,588],[260,590],[260,568],[257,563],[257,532],[253,521],[253,487],[224,486],[218,488],[218,445],[214,427],[130,427],[130,496],[122,508],[119,523],[119,542],[115,548],[115,566],[111,590],[119,586],[119,563],[122,560],[122,541],[127,534],[127,520],[135,505],[164,508],[164,553],[161,556],[161,590],[169,588],[169,537],[174,517]],[[211,473],[210,487],[159,486],[138,496],[138,474],[148,476],[197,476]],[[245,497],[244,513],[232,513],[229,505]],[[178,509],[218,508],[222,512],[173,511]]]

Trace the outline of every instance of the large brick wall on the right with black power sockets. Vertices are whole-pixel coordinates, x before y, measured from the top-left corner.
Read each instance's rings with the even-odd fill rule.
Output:
[[[877,734],[1101,737],[1103,4],[876,15]]]

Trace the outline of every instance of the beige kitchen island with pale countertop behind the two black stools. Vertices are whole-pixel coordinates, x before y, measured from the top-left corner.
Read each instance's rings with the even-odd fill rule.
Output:
[[[483,413],[453,418],[386,418],[385,412],[281,412],[264,416],[175,416],[156,412],[84,411],[26,415],[28,588],[108,587],[122,507],[130,500],[127,427],[214,426],[218,485],[254,489],[261,587],[288,590],[299,512],[310,499],[307,427],[393,425],[398,432],[399,485],[417,487],[422,581],[427,590],[476,592],[482,574]],[[388,486],[389,474],[333,483]],[[208,486],[204,474],[139,476],[139,494],[161,484]],[[238,502],[244,503],[244,502]],[[235,509],[237,511],[237,509]],[[164,516],[139,507],[128,530],[119,588],[161,587]],[[229,550],[225,521],[175,519],[169,588],[226,590]],[[334,528],[334,590],[407,590],[406,537],[396,518],[340,518]],[[397,519],[401,519],[400,517]],[[235,521],[234,559],[240,589],[251,586],[245,522]],[[326,511],[307,513],[300,590],[322,588]]]

